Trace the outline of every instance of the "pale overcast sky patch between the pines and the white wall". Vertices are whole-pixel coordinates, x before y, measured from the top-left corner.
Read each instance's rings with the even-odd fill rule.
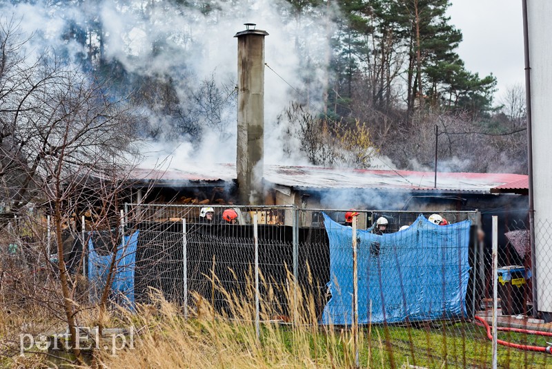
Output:
[[[464,35],[458,53],[468,70],[497,77],[497,102],[505,88],[524,83],[522,1],[452,0],[451,3],[451,22]]]

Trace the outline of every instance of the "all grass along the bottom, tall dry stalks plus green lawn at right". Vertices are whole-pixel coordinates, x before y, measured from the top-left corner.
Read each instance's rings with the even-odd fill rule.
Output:
[[[213,285],[217,285],[216,277]],[[193,310],[184,318],[181,306],[164,299],[161,292],[152,290],[150,303],[137,305],[136,312],[119,310],[108,315],[103,323],[111,327],[137,330],[135,346],[121,350],[115,356],[110,351],[94,352],[88,364],[96,368],[352,368],[354,348],[351,330],[319,325],[312,296],[295,290],[293,283],[284,290],[270,290],[260,301],[261,334],[257,340],[253,284],[245,294],[232,294],[216,288],[224,296],[226,308],[213,308],[210,299],[195,295]],[[280,296],[277,298],[277,296]],[[283,305],[278,301],[282,301]],[[210,296],[211,298],[213,297]],[[0,340],[13,337],[21,327],[32,322],[34,332],[56,329],[63,324],[52,318],[51,312],[34,304],[31,310],[6,312],[0,309]],[[30,314],[24,314],[24,312]],[[81,325],[93,326],[97,311],[83,310]],[[275,316],[290,316],[295,323],[283,323]],[[538,337],[511,334],[509,341],[542,345]],[[536,341],[533,341],[536,340]],[[482,328],[471,323],[439,323],[384,327],[364,327],[359,332],[359,354],[362,368],[489,368],[491,343]],[[19,357],[12,352],[3,354],[0,367],[44,368],[51,357],[43,354]],[[90,359],[90,357],[89,357]],[[63,361],[54,361],[58,365]],[[502,368],[543,368],[549,365],[546,355],[499,348]],[[66,366],[68,367],[68,366]]]

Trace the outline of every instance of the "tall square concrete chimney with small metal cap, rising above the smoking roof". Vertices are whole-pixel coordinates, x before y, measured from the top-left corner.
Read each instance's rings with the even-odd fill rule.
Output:
[[[242,205],[264,204],[264,37],[246,23],[237,32],[237,182]]]

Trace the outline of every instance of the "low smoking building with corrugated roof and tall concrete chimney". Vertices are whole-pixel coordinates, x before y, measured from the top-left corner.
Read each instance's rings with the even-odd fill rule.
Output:
[[[491,213],[504,231],[526,223],[529,181],[508,173],[434,173],[337,169],[264,162],[264,42],[268,33],[246,24],[237,32],[238,110],[235,163],[186,163],[179,169],[135,169],[131,203],[293,205],[309,209],[480,211],[486,234]],[[342,213],[335,214],[337,221]],[[361,219],[370,227],[371,219]],[[299,219],[302,226],[312,223]],[[279,222],[291,225],[290,217]],[[501,234],[502,229],[500,230]],[[490,242],[489,242],[490,244]]]

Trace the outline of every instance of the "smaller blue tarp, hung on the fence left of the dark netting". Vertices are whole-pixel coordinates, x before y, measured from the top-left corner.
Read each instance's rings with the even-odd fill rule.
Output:
[[[112,277],[111,297],[124,297],[119,299],[121,305],[126,305],[131,310],[134,308],[134,277],[136,266],[136,248],[138,244],[139,231],[130,236],[125,236],[124,241],[117,247],[115,256],[115,276]],[[92,245],[92,237],[88,240],[88,280],[92,289],[103,290],[108,278],[109,267],[112,261],[112,254],[99,255]],[[97,296],[99,297],[99,296]]]

